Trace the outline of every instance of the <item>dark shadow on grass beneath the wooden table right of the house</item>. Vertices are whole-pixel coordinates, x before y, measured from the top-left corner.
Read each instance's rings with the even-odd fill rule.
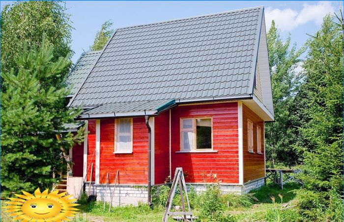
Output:
[[[287,183],[283,186],[283,190],[273,183],[267,183],[260,189],[253,190],[250,193],[254,193],[254,196],[258,199],[258,203],[271,203],[271,197],[275,197],[277,203],[281,203],[279,194],[283,196],[283,202],[286,203],[295,198],[295,190],[300,189],[300,185],[297,183]]]

